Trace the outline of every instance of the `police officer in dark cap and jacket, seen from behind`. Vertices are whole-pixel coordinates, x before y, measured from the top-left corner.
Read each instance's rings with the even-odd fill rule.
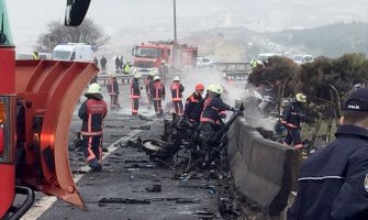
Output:
[[[368,88],[343,110],[336,140],[302,164],[288,220],[368,219]]]

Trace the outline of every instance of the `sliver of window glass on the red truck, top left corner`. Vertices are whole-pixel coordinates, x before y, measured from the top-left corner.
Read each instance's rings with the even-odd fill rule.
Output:
[[[12,45],[8,11],[4,0],[0,0],[0,46]]]

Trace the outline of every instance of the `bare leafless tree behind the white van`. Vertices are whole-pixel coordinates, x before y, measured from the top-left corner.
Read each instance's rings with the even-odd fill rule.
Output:
[[[62,21],[52,21],[47,24],[47,33],[41,34],[34,50],[36,52],[52,52],[60,43],[86,43],[93,45],[98,51],[110,41],[101,29],[91,20],[85,19],[80,26],[65,26]]]

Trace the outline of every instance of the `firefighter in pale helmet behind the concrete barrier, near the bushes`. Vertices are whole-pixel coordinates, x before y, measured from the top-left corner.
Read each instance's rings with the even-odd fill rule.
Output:
[[[303,144],[300,138],[302,121],[304,120],[303,103],[306,102],[304,94],[297,94],[295,98],[283,109],[281,124],[287,128],[288,134],[283,141],[285,145],[291,145],[295,148],[302,148]]]

